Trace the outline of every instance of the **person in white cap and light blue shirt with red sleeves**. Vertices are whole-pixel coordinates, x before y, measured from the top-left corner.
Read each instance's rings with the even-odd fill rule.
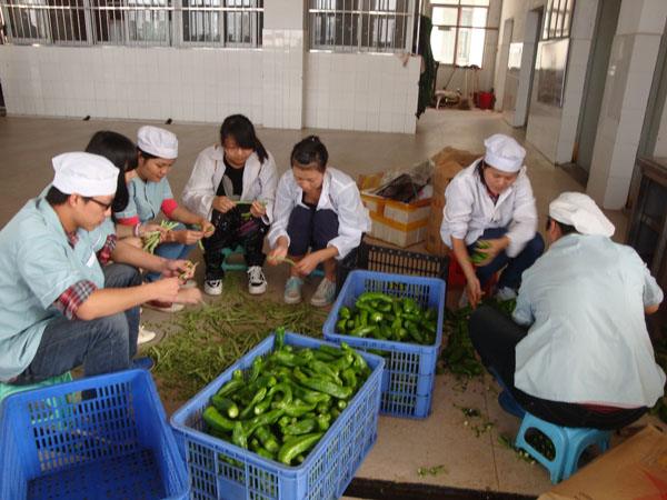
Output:
[[[121,212],[116,212],[115,218],[118,223],[140,228],[162,211],[169,220],[179,223],[161,237],[155,254],[168,260],[186,259],[192,247],[202,238],[209,238],[216,228],[206,217],[179,207],[173,199],[167,173],[178,158],[178,140],[168,130],[143,126],[137,133],[137,149],[139,162],[137,176],[128,184],[128,204]],[[143,277],[149,283],[160,278],[159,273],[152,271]],[[186,283],[186,287],[195,286],[193,280]],[[147,302],[146,307],[163,312],[183,309],[182,303],[156,300]]]

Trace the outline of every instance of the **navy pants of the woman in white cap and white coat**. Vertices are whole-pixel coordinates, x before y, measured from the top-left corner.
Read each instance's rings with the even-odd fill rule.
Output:
[[[497,240],[501,238],[507,232],[507,228],[489,228],[484,231],[484,233],[479,237],[480,240]],[[468,253],[472,253],[475,251],[475,244],[472,243],[468,247]],[[515,290],[519,288],[521,284],[521,274],[526,269],[528,269],[532,263],[537,260],[539,256],[545,251],[545,240],[540,236],[539,232],[535,233],[535,238],[532,238],[526,244],[526,248],[521,250],[521,252],[514,258],[507,257],[505,250],[496,256],[496,258],[487,266],[477,268],[477,279],[479,280],[479,286],[484,288],[491,277],[502,269],[505,266],[507,268],[500,274],[500,279],[498,280],[498,289],[504,287],[514,288]]]

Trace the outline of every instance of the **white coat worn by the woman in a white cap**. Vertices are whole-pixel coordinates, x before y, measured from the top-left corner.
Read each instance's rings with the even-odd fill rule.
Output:
[[[442,210],[440,237],[451,248],[451,238],[472,244],[488,228],[508,228],[505,236],[509,246],[508,257],[518,256],[537,231],[537,208],[526,167],[521,167],[517,180],[498,198],[496,204],[477,172],[477,164],[461,170],[445,190],[447,204]]]

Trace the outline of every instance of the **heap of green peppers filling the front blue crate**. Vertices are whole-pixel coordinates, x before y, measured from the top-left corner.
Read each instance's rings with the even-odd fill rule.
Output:
[[[345,342],[297,350],[283,334],[278,329],[273,351],[252,361],[247,380],[233,372],[202,418],[211,436],[291,466],[306,459],[371,370]]]

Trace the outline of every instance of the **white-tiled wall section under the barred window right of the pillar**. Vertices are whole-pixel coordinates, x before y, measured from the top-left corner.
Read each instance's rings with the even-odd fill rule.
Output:
[[[386,54],[306,54],[305,126],[414,133],[421,59]]]

